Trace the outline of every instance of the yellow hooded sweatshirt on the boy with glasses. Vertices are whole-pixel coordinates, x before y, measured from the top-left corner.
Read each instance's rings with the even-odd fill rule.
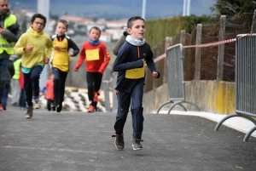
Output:
[[[32,53],[24,52],[24,48],[33,46]],[[22,34],[15,44],[15,54],[22,55],[22,66],[32,68],[37,65],[44,65],[44,57],[49,58],[52,53],[52,41],[44,31],[37,32],[30,27]]]

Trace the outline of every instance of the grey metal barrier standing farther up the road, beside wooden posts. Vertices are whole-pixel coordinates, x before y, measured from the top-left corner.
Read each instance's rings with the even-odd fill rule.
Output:
[[[160,105],[156,113],[159,113],[164,105],[170,103],[173,103],[173,105],[169,108],[167,112],[168,114],[172,111],[175,105],[179,105],[184,111],[187,111],[187,108],[183,103],[194,105],[195,109],[200,111],[197,105],[186,100],[185,82],[183,79],[183,48],[181,43],[166,49],[166,66],[170,101]]]

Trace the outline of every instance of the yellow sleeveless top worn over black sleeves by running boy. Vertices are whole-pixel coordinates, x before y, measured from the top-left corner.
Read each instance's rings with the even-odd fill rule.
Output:
[[[52,66],[58,68],[61,71],[69,70],[69,56],[67,52],[68,42],[67,38],[63,38],[62,42],[57,40],[57,37],[53,40],[54,54],[52,60]]]

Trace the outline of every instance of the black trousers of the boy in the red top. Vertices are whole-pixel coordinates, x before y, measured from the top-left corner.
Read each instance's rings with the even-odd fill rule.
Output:
[[[102,74],[100,72],[86,72],[86,81],[88,88],[88,98],[90,100],[90,105],[94,105],[96,107],[97,102],[93,101],[94,93],[98,92],[101,88],[102,84]]]

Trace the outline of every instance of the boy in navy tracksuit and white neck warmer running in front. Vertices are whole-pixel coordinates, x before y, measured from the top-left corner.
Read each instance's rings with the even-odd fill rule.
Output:
[[[127,31],[130,35],[125,38],[125,43],[119,48],[119,53],[113,63],[113,71],[119,71],[116,83],[118,111],[114,130],[116,137],[114,144],[118,150],[123,150],[124,126],[131,105],[133,128],[133,150],[142,150],[143,134],[143,85],[145,81],[145,62],[153,77],[160,77],[159,71],[154,66],[153,53],[148,43],[145,43],[145,23],[139,16],[131,17],[127,22]]]

